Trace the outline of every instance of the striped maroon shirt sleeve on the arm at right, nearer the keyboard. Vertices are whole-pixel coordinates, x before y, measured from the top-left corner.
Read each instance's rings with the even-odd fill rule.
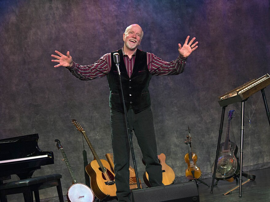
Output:
[[[147,53],[149,72],[154,76],[177,75],[184,71],[187,58],[179,55],[171,62],[166,62],[152,53]]]

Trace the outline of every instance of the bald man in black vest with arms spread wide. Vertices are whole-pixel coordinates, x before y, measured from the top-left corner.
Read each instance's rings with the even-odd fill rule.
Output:
[[[149,174],[152,187],[162,185],[162,169],[157,158],[156,136],[151,111],[149,81],[152,75],[177,75],[182,73],[187,57],[198,47],[195,37],[188,43],[189,36],[183,46],[178,44],[179,56],[175,61],[165,62],[152,53],[137,49],[143,37],[142,28],[138,24],[128,26],[123,34],[124,47],[120,54],[120,71],[128,111],[130,130],[134,131],[146,163],[145,170]],[[115,183],[117,197],[120,202],[130,201],[129,189],[129,139],[125,125],[125,114],[122,102],[118,71],[114,64],[113,53],[103,55],[95,64],[81,66],[67,55],[55,51],[59,56],[52,55],[59,62],[54,67],[64,66],[81,80],[92,80],[107,76],[110,88],[111,136],[114,152]]]

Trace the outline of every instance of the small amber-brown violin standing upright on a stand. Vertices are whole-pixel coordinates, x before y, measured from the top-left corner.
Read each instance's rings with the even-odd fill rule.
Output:
[[[186,177],[189,180],[195,180],[201,177],[202,172],[200,168],[196,166],[198,157],[192,150],[189,126],[187,126],[187,131],[188,136],[185,140],[185,144],[187,144],[188,147],[188,153],[185,155],[185,162],[187,163]]]

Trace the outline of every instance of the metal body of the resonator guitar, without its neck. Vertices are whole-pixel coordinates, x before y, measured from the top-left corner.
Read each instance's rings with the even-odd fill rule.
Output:
[[[231,141],[228,141],[228,151],[224,151],[224,142],[221,144],[215,176],[217,179],[226,180],[239,174],[240,165],[236,158],[237,151],[237,145]],[[212,165],[212,173],[214,173],[214,163]]]

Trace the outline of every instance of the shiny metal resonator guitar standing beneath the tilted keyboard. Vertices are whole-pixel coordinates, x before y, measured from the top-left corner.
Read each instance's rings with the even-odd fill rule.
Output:
[[[218,162],[215,178],[218,180],[233,181],[234,176],[239,174],[240,165],[236,157],[238,147],[230,141],[230,124],[234,117],[234,110],[230,110],[226,127],[225,141],[221,144],[218,154]],[[212,173],[214,174],[215,162],[212,165]]]

